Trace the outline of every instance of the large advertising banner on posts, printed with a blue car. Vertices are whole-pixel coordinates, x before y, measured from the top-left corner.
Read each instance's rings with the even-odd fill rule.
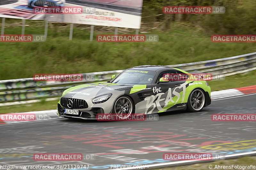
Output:
[[[0,17],[140,29],[143,0],[1,0]]]

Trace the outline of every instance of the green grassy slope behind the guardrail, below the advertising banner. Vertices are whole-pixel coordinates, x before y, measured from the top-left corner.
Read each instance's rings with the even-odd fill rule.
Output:
[[[18,19],[6,19],[5,34],[20,34]],[[21,23],[20,23],[21,24]],[[25,34],[44,34],[44,23],[27,20]],[[171,31],[157,28],[158,42],[89,41],[87,26],[50,23],[45,42],[0,42],[0,80],[29,78],[33,74],[77,74],[126,69],[139,65],[172,65],[231,57],[256,51],[255,43],[213,43],[211,35],[190,23],[172,23]],[[97,30],[97,29],[96,29]],[[132,29],[130,29],[132,31]],[[113,30],[114,31],[114,30]],[[130,32],[129,34],[134,34]],[[107,33],[104,33],[107,34]],[[113,34],[109,32],[108,34]]]

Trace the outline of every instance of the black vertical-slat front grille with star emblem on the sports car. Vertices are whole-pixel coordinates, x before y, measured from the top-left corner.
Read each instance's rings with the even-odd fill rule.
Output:
[[[71,108],[68,107],[68,100],[72,100],[73,105]],[[82,99],[73,99],[73,98],[67,98],[67,97],[61,97],[60,98],[60,104],[61,106],[68,108],[68,109],[86,109],[88,108],[88,104],[85,100]]]

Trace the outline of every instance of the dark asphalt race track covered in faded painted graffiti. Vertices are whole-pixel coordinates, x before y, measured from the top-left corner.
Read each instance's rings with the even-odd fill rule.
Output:
[[[111,169],[111,165],[116,164],[149,166],[174,162],[163,160],[163,153],[167,152],[230,155],[256,151],[255,122],[211,120],[212,114],[255,113],[255,99],[255,93],[217,99],[202,112],[164,113],[158,121],[97,122],[58,118],[4,124],[0,128],[0,165],[69,165],[69,169],[77,169],[74,165],[82,164],[89,165],[89,169]],[[234,142],[241,143],[227,144]],[[209,146],[219,144],[228,145],[229,149]],[[84,160],[34,161],[34,153],[82,153]],[[90,154],[96,156],[86,159]]]

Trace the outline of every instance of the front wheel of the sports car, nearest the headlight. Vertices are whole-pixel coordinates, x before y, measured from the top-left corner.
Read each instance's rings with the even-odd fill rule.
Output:
[[[132,114],[133,103],[130,97],[121,96],[116,99],[113,106],[113,114],[116,114],[120,119],[126,119]]]

